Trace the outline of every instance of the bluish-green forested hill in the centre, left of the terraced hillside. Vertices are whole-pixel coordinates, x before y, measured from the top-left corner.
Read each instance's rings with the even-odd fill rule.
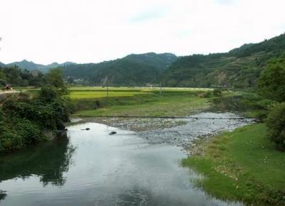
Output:
[[[177,59],[172,53],[131,54],[125,58],[61,67],[68,80],[78,80],[89,85],[145,86],[160,81],[163,72]]]

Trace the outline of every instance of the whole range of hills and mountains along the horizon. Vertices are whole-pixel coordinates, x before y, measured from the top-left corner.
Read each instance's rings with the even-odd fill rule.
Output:
[[[270,58],[285,53],[285,34],[261,43],[247,43],[228,53],[188,55],[177,57],[172,53],[131,54],[125,58],[102,63],[51,63],[39,65],[27,60],[0,67],[17,65],[22,69],[47,72],[60,67],[68,80],[86,85],[168,87],[254,87],[260,72]]]

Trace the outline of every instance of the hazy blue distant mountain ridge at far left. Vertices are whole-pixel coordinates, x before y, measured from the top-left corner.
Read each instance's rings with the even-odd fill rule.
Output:
[[[28,61],[28,60],[22,60],[21,62],[14,62],[14,63],[9,63],[6,65],[1,65],[0,63],[0,67],[13,67],[13,66],[18,66],[21,69],[26,69],[29,71],[32,70],[38,70],[40,72],[48,72],[49,69],[54,68],[54,67],[61,67],[61,66],[66,66],[66,65],[73,65],[75,63],[71,63],[71,62],[66,62],[66,63],[62,63],[62,64],[58,64],[58,63],[51,63],[49,65],[40,65],[40,64],[36,64],[33,63],[32,61]]]

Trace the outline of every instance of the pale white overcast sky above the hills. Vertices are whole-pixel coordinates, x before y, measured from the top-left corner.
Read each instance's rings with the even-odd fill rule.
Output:
[[[284,0],[0,0],[0,62],[220,53],[285,32]]]

